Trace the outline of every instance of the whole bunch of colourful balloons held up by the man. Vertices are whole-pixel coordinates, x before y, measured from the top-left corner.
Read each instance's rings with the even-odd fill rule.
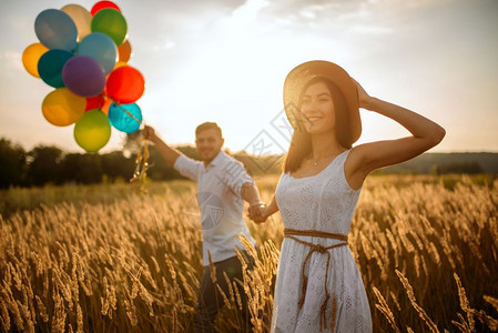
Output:
[[[79,4],[47,9],[34,21],[40,42],[26,48],[26,70],[53,87],[42,102],[47,121],[74,124],[74,140],[89,152],[111,138],[111,125],[132,133],[142,112],[135,103],[145,80],[128,64],[131,44],[121,9],[96,2],[90,12]]]

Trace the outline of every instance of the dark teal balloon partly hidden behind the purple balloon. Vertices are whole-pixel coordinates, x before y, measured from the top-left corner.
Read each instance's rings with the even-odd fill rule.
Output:
[[[49,50],[38,61],[38,72],[47,84],[53,88],[64,87],[62,69],[72,58],[72,53],[64,50]]]

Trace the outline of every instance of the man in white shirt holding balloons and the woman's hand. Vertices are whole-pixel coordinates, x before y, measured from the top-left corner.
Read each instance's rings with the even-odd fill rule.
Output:
[[[214,332],[214,320],[223,306],[223,300],[211,278],[210,255],[217,283],[225,294],[230,294],[223,272],[231,281],[243,280],[242,265],[234,249],[244,249],[237,238],[241,233],[254,244],[242,212],[244,201],[247,201],[250,214],[260,214],[260,193],[243,164],[222,151],[222,130],[214,122],[204,122],[195,129],[195,147],[202,162],[169,147],[151,127],[145,127],[144,138],[152,141],[164,160],[182,175],[197,182],[205,270],[194,310],[194,331]],[[243,289],[240,291],[241,296],[245,295]],[[242,316],[247,326],[250,314],[246,300],[243,300]]]

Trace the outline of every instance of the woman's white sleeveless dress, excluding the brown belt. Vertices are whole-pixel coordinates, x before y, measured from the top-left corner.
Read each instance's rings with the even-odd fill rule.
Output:
[[[318,230],[347,234],[360,190],[352,190],[344,175],[344,162],[349,150],[337,155],[321,173],[295,179],[283,173],[275,198],[286,229]],[[344,243],[339,240],[296,236],[324,248]],[[372,332],[370,309],[362,275],[349,248],[327,250],[327,254],[313,252],[305,265],[307,275],[304,303],[302,294],[302,268],[309,246],[285,238],[282,243],[275,285],[272,332],[321,332],[321,307],[325,301],[325,278],[331,299],[325,310],[323,332]],[[335,299],[336,306],[333,306]],[[335,307],[335,311],[333,311]],[[335,319],[332,321],[332,314]]]

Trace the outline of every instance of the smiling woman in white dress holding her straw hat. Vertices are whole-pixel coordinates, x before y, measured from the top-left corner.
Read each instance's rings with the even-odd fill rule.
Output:
[[[280,210],[285,226],[272,332],[372,332],[365,287],[347,246],[362,184],[372,171],[435,147],[445,130],[368,95],[327,61],[293,69],[284,104],[294,128],[284,172],[261,218],[252,216],[264,222]],[[352,148],[362,132],[358,108],[393,119],[411,135]]]

